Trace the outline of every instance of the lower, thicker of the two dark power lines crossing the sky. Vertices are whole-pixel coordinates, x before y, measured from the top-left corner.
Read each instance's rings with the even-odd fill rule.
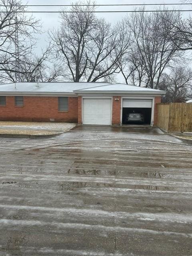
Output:
[[[17,13],[86,13],[89,11],[18,11]],[[105,12],[105,13],[112,13],[112,12],[192,12],[192,10],[132,10],[132,11],[90,11],[90,12]],[[0,11],[0,13],[7,13]]]

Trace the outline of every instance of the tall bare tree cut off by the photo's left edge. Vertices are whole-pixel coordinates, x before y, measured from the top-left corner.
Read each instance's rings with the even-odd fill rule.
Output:
[[[0,71],[23,73],[18,66],[31,53],[39,21],[24,14],[20,0],[0,0],[0,5]]]

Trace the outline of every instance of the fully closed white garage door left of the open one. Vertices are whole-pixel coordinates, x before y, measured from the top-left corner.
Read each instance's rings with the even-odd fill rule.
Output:
[[[111,124],[111,99],[84,98],[83,124]]]

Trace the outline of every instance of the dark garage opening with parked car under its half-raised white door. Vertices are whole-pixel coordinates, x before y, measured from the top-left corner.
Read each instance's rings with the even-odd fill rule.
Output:
[[[122,124],[151,124],[152,100],[123,99]]]

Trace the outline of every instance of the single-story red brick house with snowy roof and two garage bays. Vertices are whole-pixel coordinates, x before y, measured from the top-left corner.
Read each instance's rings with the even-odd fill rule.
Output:
[[[127,84],[19,82],[0,85],[0,120],[121,125],[124,115],[142,112],[157,124],[164,91]]]

